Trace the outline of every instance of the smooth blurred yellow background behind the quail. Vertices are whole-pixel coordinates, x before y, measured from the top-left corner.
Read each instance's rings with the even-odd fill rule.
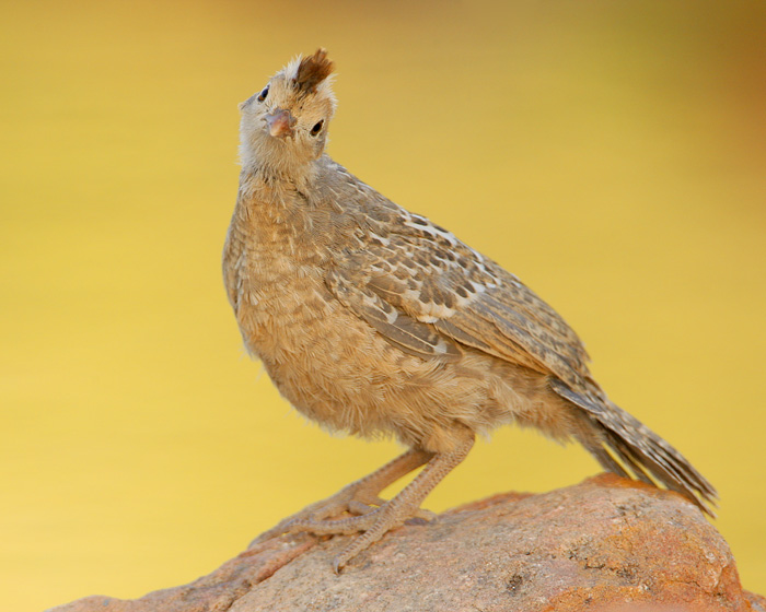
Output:
[[[337,64],[330,154],[519,274],[719,489],[766,591],[766,4],[9,2],[0,15],[0,608],[207,574],[394,457],[241,346],[236,105]],[[599,471],[499,431],[442,510]]]

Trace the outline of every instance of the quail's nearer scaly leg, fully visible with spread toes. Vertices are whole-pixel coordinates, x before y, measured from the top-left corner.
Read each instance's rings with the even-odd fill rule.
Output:
[[[333,562],[335,572],[340,569],[356,555],[374,544],[385,533],[403,525],[407,519],[417,516],[421,502],[471,451],[474,446],[474,435],[465,439],[454,450],[433,455],[428,464],[417,478],[405,486],[398,495],[385,502],[379,508],[361,516],[341,518],[338,520],[316,520],[295,518],[286,525],[291,532],[311,531],[320,534],[355,533],[363,531]]]

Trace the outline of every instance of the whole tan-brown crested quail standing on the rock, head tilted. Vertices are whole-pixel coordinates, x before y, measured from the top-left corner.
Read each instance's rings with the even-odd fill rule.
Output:
[[[680,493],[712,516],[717,492],[613,403],[556,310],[454,234],[327,153],[336,110],[327,51],[298,56],[240,105],[240,185],[223,278],[244,345],[323,428],[407,450],[266,531],[357,534],[339,573],[420,504],[477,435],[517,424],[580,443],[607,471]],[[380,493],[422,470],[390,499]]]

